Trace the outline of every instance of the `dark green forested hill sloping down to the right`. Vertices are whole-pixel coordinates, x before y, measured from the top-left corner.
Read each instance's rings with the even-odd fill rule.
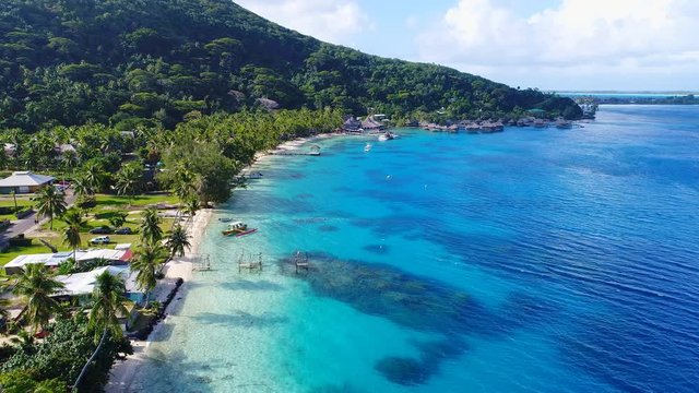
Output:
[[[396,119],[581,115],[568,98],[324,44],[228,0],[2,0],[0,37],[0,129],[173,128],[274,105],[260,98]]]

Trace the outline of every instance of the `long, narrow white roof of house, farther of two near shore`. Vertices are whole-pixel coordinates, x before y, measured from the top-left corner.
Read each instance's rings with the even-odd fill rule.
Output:
[[[96,260],[103,259],[110,265],[123,265],[129,262],[131,257],[133,257],[133,252],[131,250],[94,249],[78,250],[78,252],[75,252],[75,261],[78,263],[94,262]],[[73,258],[72,251],[19,255],[3,266],[4,274],[20,274],[24,270],[25,265],[35,263],[42,263],[47,267],[55,269],[70,258]]]

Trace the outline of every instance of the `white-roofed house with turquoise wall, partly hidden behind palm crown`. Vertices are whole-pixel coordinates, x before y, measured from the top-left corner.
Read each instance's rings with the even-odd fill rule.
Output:
[[[56,279],[63,284],[63,288],[56,294],[56,297],[76,298],[80,305],[86,303],[95,289],[97,276],[105,272],[123,281],[127,289],[125,295],[129,300],[135,303],[143,301],[145,294],[135,282],[137,273],[129,266],[103,266],[85,273],[56,276]]]

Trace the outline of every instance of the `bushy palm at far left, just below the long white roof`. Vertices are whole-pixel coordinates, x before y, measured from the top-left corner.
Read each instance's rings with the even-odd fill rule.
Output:
[[[27,264],[14,284],[12,293],[26,301],[25,318],[36,332],[45,327],[51,314],[60,310],[60,305],[54,296],[63,284],[51,277],[43,263]]]

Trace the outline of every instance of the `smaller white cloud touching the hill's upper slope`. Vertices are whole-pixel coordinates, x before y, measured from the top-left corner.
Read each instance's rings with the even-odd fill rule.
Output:
[[[353,44],[371,27],[369,16],[352,0],[236,0],[238,4],[285,27],[333,44]]]

